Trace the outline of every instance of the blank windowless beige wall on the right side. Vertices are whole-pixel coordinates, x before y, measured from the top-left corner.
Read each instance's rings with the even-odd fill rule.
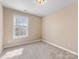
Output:
[[[77,3],[43,18],[43,39],[77,53]]]

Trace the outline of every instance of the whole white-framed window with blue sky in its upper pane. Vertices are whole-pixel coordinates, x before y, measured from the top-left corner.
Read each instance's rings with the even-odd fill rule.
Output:
[[[13,37],[23,38],[28,36],[28,17],[14,15]]]

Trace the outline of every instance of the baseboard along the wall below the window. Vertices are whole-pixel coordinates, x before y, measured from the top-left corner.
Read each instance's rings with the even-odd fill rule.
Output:
[[[19,46],[19,45],[24,45],[24,44],[29,44],[29,43],[33,43],[33,42],[39,42],[39,41],[41,41],[41,39],[39,39],[39,40],[23,41],[23,42],[16,42],[16,43],[12,43],[12,44],[6,44],[6,45],[4,45],[4,48]]]

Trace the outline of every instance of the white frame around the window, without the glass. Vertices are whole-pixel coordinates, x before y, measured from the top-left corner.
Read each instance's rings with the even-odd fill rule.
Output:
[[[26,28],[26,35],[20,35],[20,36],[16,36],[16,17],[17,16],[24,16],[24,15],[13,15],[13,39],[20,39],[20,38],[25,38],[25,37],[28,37],[28,28],[29,28],[29,19],[28,19],[28,17],[27,16],[24,16],[24,17],[26,17],[26,19],[27,19],[27,28]]]

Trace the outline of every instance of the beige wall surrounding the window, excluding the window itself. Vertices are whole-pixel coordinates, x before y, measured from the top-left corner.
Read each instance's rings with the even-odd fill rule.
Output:
[[[29,36],[25,38],[13,39],[13,15],[24,15],[29,18]],[[27,43],[41,39],[41,17],[25,14],[12,9],[4,8],[4,46],[15,46],[16,44]]]

